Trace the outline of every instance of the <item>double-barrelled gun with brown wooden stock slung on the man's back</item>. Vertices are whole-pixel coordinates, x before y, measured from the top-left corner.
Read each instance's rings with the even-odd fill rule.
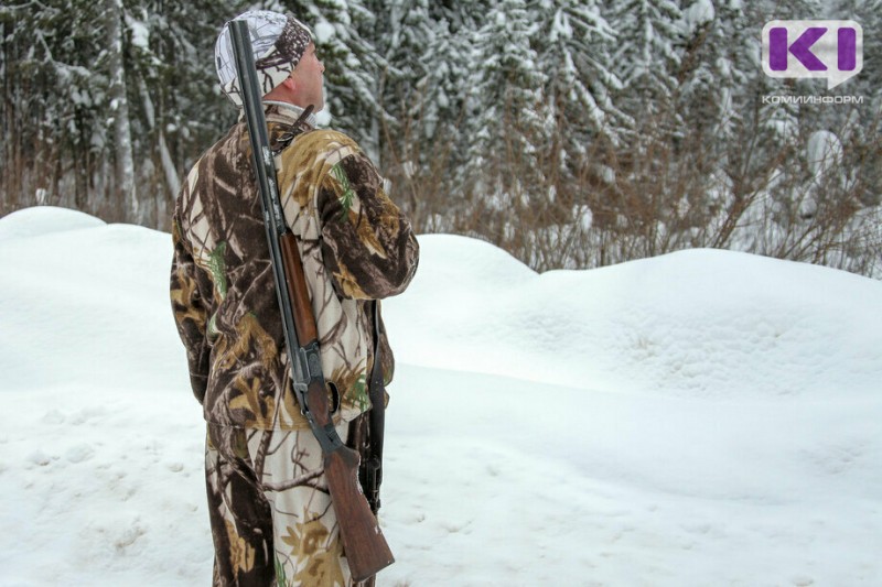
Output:
[[[327,385],[319,355],[319,335],[297,239],[284,220],[269,148],[267,121],[244,20],[229,22],[236,73],[241,86],[245,118],[251,139],[252,162],[263,207],[276,294],[282,316],[294,395],[322,447],[324,475],[337,515],[340,537],[353,580],[361,583],[395,562],[377,519],[358,483],[358,453],[343,444],[331,416]]]

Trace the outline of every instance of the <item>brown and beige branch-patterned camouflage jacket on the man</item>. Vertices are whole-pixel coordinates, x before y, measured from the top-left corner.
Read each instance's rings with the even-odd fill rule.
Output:
[[[297,128],[299,109],[270,106],[267,123],[284,216],[297,237],[336,422],[370,406],[372,300],[398,294],[417,269],[410,224],[345,134]],[[286,144],[289,143],[287,146]],[[178,198],[171,298],[193,392],[207,422],[306,427],[293,396],[260,197],[244,121],[190,172]],[[394,361],[380,318],[384,379]]]

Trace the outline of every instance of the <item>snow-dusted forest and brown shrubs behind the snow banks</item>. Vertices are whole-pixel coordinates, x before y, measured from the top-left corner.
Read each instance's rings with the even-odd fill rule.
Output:
[[[0,213],[170,230],[236,119],[214,43],[249,8],[313,26],[323,123],[419,232],[539,271],[714,247],[882,278],[882,0],[11,0]],[[774,19],[857,21],[863,70],[832,90],[767,77]]]

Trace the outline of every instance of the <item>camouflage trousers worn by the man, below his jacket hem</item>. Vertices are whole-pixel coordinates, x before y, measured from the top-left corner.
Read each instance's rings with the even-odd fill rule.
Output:
[[[311,431],[208,424],[205,472],[215,587],[353,585]]]

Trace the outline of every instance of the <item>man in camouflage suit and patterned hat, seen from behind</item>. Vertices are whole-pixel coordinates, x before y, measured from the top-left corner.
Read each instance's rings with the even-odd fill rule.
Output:
[[[375,358],[392,356],[373,301],[417,269],[410,224],[348,137],[315,130],[324,66],[290,14],[248,22],[283,211],[300,248],[337,433],[361,443]],[[241,108],[229,26],[216,45],[224,93]],[[319,443],[291,389],[260,197],[243,117],[193,166],[173,221],[171,297],[207,422],[215,585],[352,585]],[[377,306],[378,307],[378,306]]]

